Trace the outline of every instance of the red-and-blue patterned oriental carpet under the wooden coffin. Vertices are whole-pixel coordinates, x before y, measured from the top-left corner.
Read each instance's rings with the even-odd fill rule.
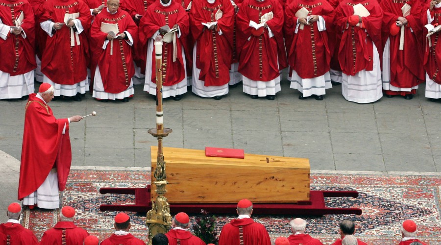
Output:
[[[100,195],[101,187],[145,187],[150,183],[149,171],[71,170],[62,204],[73,206],[75,223],[100,240],[113,232],[117,212],[100,212],[100,204],[132,204],[134,196]],[[307,232],[323,244],[332,244],[338,236],[340,221],[356,223],[356,236],[372,245],[398,244],[399,227],[406,219],[418,225],[417,237],[430,245],[441,245],[441,176],[373,175],[373,174],[311,174],[311,190],[356,190],[357,198],[326,198],[328,207],[361,208],[363,214],[301,217],[308,221]],[[40,240],[43,232],[57,222],[59,210],[24,210],[22,224],[32,229]],[[172,210],[173,212],[173,210]],[[131,213],[131,232],[147,242],[145,214]],[[172,213],[174,215],[174,213]],[[195,221],[194,214],[191,222]],[[221,227],[236,216],[217,216],[218,234]],[[271,240],[290,235],[290,216],[253,216],[264,224]],[[295,218],[295,217],[294,217]]]

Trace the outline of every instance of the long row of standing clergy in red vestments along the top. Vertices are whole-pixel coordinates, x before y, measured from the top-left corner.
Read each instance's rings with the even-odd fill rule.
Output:
[[[441,98],[441,1],[29,2],[0,0],[0,99],[32,93],[34,76],[55,96],[80,101],[90,90],[101,101],[127,102],[133,78],[145,74],[144,90],[156,95],[159,35],[163,98],[179,100],[192,85],[198,96],[221,99],[242,80],[251,98],[272,100],[287,67],[300,99],[321,100],[340,83],[357,103],[383,92],[411,99],[424,81],[425,96]]]

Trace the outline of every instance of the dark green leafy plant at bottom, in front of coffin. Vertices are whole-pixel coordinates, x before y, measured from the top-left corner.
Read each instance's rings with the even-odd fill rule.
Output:
[[[196,224],[192,225],[195,236],[199,237],[206,244],[215,244],[219,242],[218,233],[215,231],[217,218],[209,216],[208,212],[201,209],[201,217],[196,218]]]

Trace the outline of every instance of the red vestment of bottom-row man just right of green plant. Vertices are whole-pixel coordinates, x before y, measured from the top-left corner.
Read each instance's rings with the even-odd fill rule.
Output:
[[[240,245],[240,234],[244,238],[243,245],[271,245],[267,229],[251,218],[234,219],[222,227],[219,245]]]

